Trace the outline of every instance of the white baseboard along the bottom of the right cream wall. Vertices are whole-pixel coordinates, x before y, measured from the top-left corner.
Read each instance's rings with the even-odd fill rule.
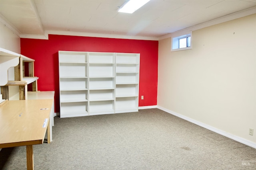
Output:
[[[241,137],[238,137],[238,136],[236,136],[236,135],[232,135],[232,134],[230,134],[230,133],[227,133],[227,132],[225,132],[225,131],[222,131],[222,130],[220,130],[220,129],[217,129],[217,128],[215,128],[215,127],[212,127],[212,126],[210,126],[210,125],[204,124],[204,123],[202,123],[202,122],[200,122],[200,121],[196,121],[196,120],[194,120],[194,119],[191,119],[191,118],[189,118],[189,117],[186,117],[186,116],[181,115],[181,114],[179,114],[179,113],[176,113],[176,112],[174,112],[174,111],[165,109],[164,107],[157,106],[157,108],[160,109],[160,110],[162,110],[162,111],[165,111],[165,112],[167,112],[167,113],[170,113],[170,114],[172,114],[172,115],[175,115],[175,116],[177,116],[177,117],[180,117],[181,119],[184,119],[184,120],[186,120],[186,121],[189,121],[189,122],[191,122],[191,123],[194,123],[194,124],[196,124],[196,125],[198,125],[198,126],[204,127],[204,128],[206,128],[206,129],[208,129],[208,130],[210,130],[210,131],[213,131],[213,132],[215,132],[215,133],[218,133],[218,134],[220,134],[220,135],[223,135],[223,136],[225,136],[225,137],[228,137],[228,138],[230,138],[230,139],[233,139],[233,140],[235,140],[235,141],[238,141],[238,142],[240,142],[240,143],[243,143],[244,145],[248,145],[248,146],[253,147],[253,148],[256,149],[256,143],[253,143],[253,142],[251,142],[251,141],[248,141],[248,140],[243,139],[243,138],[241,138]]]

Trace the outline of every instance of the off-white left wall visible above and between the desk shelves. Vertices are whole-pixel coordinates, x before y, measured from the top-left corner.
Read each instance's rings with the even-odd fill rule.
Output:
[[[20,37],[2,22],[0,22],[0,47],[20,54]],[[9,68],[8,77],[9,80],[14,80],[14,67]],[[9,97],[18,92],[18,86],[9,86]]]

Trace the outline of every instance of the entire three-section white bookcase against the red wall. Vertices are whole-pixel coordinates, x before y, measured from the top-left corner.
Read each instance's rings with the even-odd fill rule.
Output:
[[[60,117],[138,111],[140,54],[59,51]]]

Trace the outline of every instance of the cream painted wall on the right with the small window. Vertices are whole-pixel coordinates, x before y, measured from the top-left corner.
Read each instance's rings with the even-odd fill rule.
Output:
[[[256,14],[193,31],[192,45],[159,41],[157,105],[256,146]]]

